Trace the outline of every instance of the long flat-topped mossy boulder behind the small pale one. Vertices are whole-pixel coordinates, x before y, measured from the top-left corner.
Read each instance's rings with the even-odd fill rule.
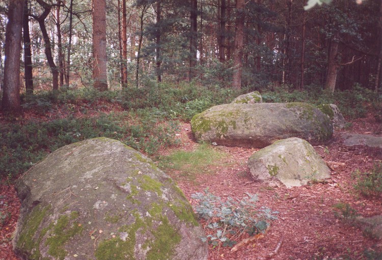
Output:
[[[330,119],[307,103],[214,106],[196,114],[191,127],[197,140],[255,148],[289,137],[319,144],[330,140],[333,134]]]

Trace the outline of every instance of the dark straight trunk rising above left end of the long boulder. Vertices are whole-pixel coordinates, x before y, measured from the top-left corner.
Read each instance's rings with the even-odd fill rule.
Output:
[[[197,50],[198,50],[198,0],[191,0],[191,12],[190,12],[190,40],[189,40],[189,81],[193,80],[196,76],[195,67],[197,62]]]

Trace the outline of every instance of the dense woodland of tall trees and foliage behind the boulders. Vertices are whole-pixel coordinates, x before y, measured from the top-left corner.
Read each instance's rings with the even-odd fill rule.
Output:
[[[6,44],[15,45],[6,24],[17,3],[21,93],[162,80],[330,92],[380,85],[377,0],[10,0],[0,4],[2,90]]]

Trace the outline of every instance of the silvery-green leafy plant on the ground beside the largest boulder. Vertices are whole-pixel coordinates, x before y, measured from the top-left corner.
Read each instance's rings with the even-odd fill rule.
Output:
[[[243,233],[250,236],[265,233],[270,221],[276,220],[279,212],[269,208],[258,208],[256,194],[245,193],[241,200],[231,197],[222,199],[206,189],[203,193],[192,194],[199,200],[195,211],[200,218],[207,221],[206,227],[211,229],[209,235],[202,238],[213,246],[233,246]]]

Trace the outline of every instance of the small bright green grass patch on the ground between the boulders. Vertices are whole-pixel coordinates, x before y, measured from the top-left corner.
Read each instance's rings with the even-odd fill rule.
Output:
[[[158,158],[159,166],[165,170],[179,170],[183,177],[195,180],[197,174],[208,172],[208,167],[221,164],[227,154],[202,143],[193,151],[177,150]]]

